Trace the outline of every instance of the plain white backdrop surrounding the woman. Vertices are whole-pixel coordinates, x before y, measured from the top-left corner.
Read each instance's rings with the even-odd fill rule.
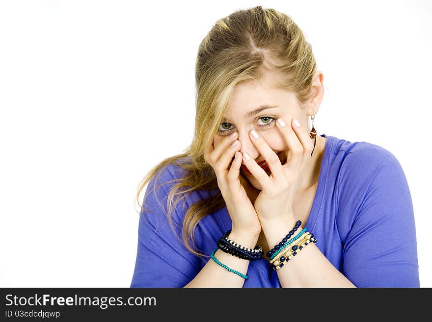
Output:
[[[432,287],[431,2],[155,3],[0,2],[0,286],[130,286],[135,193],[191,142],[198,45],[217,19],[262,5],[312,44],[318,134],[398,158]]]

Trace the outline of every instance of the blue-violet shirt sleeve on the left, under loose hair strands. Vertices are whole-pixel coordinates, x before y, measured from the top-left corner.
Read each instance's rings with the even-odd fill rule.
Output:
[[[166,168],[157,179],[149,181],[138,224],[138,247],[131,287],[184,287],[200,270],[199,257],[182,243],[181,224],[186,209],[181,204],[173,210],[174,230],[168,222],[167,196],[173,180]],[[158,187],[161,183],[162,186]]]

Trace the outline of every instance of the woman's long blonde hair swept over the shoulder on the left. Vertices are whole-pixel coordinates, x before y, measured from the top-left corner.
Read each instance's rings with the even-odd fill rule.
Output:
[[[237,10],[216,21],[199,45],[196,58],[196,115],[191,145],[184,153],[153,167],[139,184],[138,204],[141,190],[155,174],[162,173],[159,170],[169,164],[184,170],[180,178],[165,182],[177,181],[168,193],[168,212],[165,212],[172,228],[172,211],[178,202],[197,189],[216,192],[211,198],[192,204],[180,223],[182,242],[198,256],[206,255],[196,248],[195,227],[206,215],[225,207],[216,174],[204,160],[205,148],[213,140],[234,88],[241,82],[260,80],[265,71],[282,75],[276,86],[294,92],[300,105],[310,99],[316,61],[311,45],[294,21],[288,15],[261,6]],[[156,188],[155,185],[153,192]],[[141,211],[148,211],[144,208],[146,196]]]

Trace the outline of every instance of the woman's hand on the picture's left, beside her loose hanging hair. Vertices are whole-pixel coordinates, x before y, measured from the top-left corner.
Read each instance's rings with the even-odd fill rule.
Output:
[[[233,147],[234,142],[237,144]],[[243,160],[240,147],[241,143],[237,140],[237,135],[233,138],[227,136],[216,149],[212,142],[204,152],[204,159],[215,170],[217,185],[232,221],[232,231],[255,237],[261,232],[261,223],[240,182],[240,166]]]

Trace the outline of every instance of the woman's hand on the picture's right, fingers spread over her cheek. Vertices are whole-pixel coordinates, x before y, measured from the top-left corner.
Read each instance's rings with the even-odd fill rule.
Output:
[[[293,200],[303,181],[303,175],[311,159],[314,144],[306,131],[304,131],[304,128],[301,127],[301,124],[300,127],[297,127],[294,124],[294,119],[291,120],[291,124],[282,126],[279,122],[276,122],[276,126],[290,149],[288,162],[283,165],[277,154],[269,147],[261,135],[254,138],[249,133],[252,142],[264,156],[271,171],[269,176],[255,160],[246,160],[243,156],[246,167],[262,187],[254,203],[260,220],[293,215]]]

